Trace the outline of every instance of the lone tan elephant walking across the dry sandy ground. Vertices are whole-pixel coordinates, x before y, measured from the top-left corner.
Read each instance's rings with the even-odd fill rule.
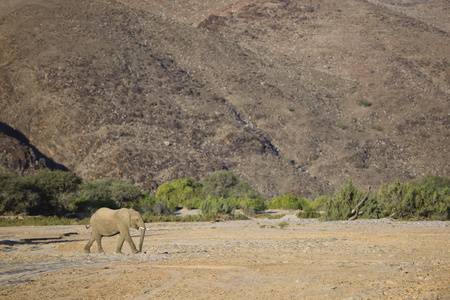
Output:
[[[133,253],[142,251],[144,243],[145,224],[141,215],[131,208],[109,209],[102,207],[98,209],[91,217],[90,224],[92,227],[91,238],[84,247],[85,253],[90,253],[92,243],[97,242],[98,253],[103,253],[102,237],[113,236],[119,234],[119,242],[117,243],[116,253],[122,253],[123,242],[127,241]],[[141,230],[141,239],[139,241],[139,250],[131,239],[128,228]]]

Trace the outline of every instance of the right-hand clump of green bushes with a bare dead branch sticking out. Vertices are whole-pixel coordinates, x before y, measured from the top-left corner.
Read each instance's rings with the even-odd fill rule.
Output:
[[[377,192],[362,192],[350,180],[333,195],[308,202],[298,216],[326,221],[357,217],[450,220],[450,178],[428,175],[407,183],[383,183]]]

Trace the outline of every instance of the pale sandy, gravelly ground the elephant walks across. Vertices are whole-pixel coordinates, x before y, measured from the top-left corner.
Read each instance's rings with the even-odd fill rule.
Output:
[[[114,254],[117,237],[103,239],[106,254],[83,254],[84,226],[0,228],[0,298],[450,299],[450,222],[147,227],[136,255],[126,244]]]

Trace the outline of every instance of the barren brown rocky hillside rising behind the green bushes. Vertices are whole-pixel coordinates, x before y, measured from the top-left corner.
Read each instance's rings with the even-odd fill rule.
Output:
[[[268,197],[448,176],[448,9],[3,1],[0,171],[154,190],[228,169]]]

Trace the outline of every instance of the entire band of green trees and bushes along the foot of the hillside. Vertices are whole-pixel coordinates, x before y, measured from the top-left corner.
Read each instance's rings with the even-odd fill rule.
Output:
[[[350,180],[332,195],[305,199],[284,194],[266,201],[248,182],[228,171],[208,174],[200,181],[183,178],[164,183],[154,196],[128,181],[83,182],[72,172],[40,170],[25,177],[0,174],[0,214],[63,216],[93,213],[103,206],[132,207],[147,215],[168,215],[187,207],[228,216],[234,216],[237,209],[245,214],[290,209],[300,210],[302,218],[324,220],[345,220],[352,214],[353,218],[450,220],[450,179],[429,175],[408,183],[382,184],[374,192],[362,192]]]

